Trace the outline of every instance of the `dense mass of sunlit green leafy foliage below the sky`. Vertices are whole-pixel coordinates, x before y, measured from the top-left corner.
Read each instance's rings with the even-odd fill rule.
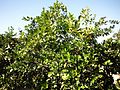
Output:
[[[0,35],[0,87],[16,90],[115,90],[111,73],[120,72],[120,33],[103,43],[116,20],[82,9],[78,18],[58,1],[15,37],[13,28]]]

